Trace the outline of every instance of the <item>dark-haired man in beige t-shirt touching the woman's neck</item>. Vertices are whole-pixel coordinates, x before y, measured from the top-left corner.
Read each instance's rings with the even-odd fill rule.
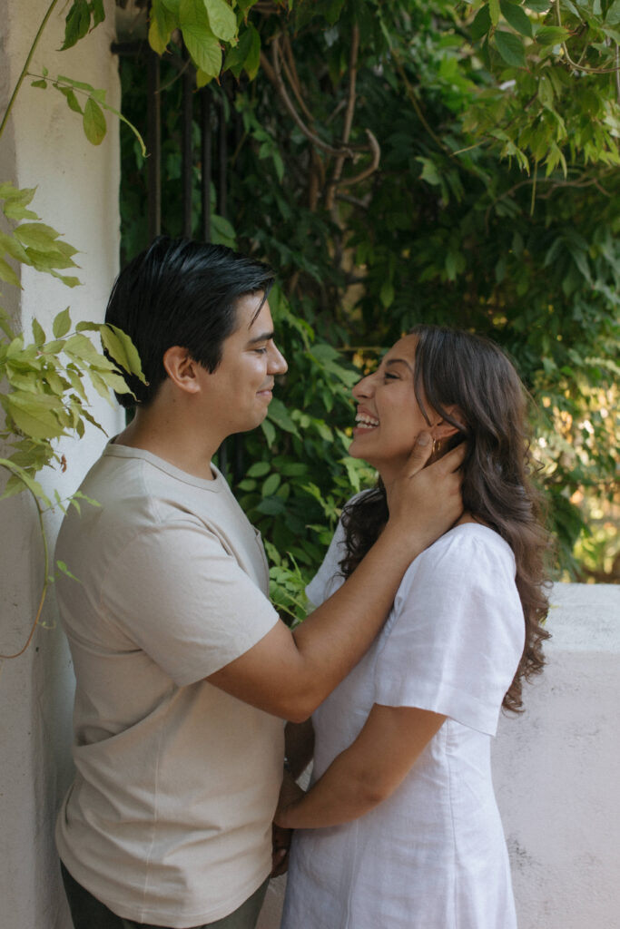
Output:
[[[262,543],[211,464],[286,370],[272,280],[230,249],[161,238],[112,290],[107,321],[149,384],[131,380],[136,416],[82,485],[101,506],[59,533],[79,578],[58,585],[77,682],[57,829],[75,929],[255,925],[282,720],[307,718],[359,661],[412,558],[460,513],[458,455],[403,476],[350,580],[294,634],[280,622]]]

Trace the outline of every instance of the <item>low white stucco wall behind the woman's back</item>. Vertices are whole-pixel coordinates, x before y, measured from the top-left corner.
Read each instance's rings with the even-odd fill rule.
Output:
[[[551,603],[547,668],[493,753],[519,929],[620,929],[620,587],[556,584]],[[278,929],[284,889],[257,929]]]

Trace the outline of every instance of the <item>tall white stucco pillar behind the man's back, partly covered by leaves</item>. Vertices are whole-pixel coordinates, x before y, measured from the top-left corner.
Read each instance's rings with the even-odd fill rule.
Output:
[[[0,109],[4,111],[48,4],[40,0],[0,0]],[[107,19],[73,49],[59,53],[68,7],[59,4],[35,52],[31,72],[67,74],[108,89],[118,105],[117,62],[110,52],[113,2]],[[34,211],[81,251],[82,287],[70,291],[59,281],[31,268],[22,273],[21,294],[4,285],[0,303],[30,334],[34,316],[46,332],[56,313],[70,305],[73,321],[100,320],[117,271],[119,241],[118,127],[109,119],[108,136],[94,148],[81,119],[53,89],[45,92],[26,80],[10,124],[0,139],[0,180],[18,187],[38,187]],[[92,412],[113,434],[118,411],[99,398]],[[65,441],[64,475],[42,477],[46,491],[71,493],[98,457],[105,437],[89,428],[85,438]],[[51,540],[59,513],[50,514]],[[21,494],[0,503],[0,651],[18,650],[36,612],[43,560],[33,506]],[[49,599],[44,619],[55,622]],[[70,725],[73,677],[66,645],[58,628],[36,631],[33,646],[15,661],[0,663],[0,924],[11,929],[70,929],[60,892],[53,846],[53,819],[70,775]]]

